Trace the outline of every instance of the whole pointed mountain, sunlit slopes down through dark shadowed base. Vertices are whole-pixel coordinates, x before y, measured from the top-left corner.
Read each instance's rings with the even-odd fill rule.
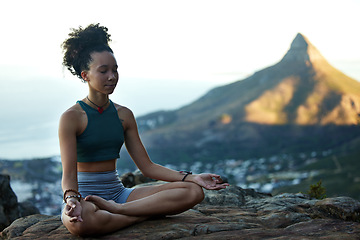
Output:
[[[138,124],[154,159],[177,162],[338,148],[358,139],[359,114],[360,83],[298,34],[277,64]]]

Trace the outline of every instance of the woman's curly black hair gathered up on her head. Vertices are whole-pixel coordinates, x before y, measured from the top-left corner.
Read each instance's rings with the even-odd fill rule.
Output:
[[[89,70],[92,61],[91,53],[108,51],[113,53],[109,46],[110,34],[108,29],[100,24],[90,24],[86,28],[81,26],[78,29],[72,28],[69,38],[61,47],[64,57],[63,65],[75,76],[81,77],[81,72]]]

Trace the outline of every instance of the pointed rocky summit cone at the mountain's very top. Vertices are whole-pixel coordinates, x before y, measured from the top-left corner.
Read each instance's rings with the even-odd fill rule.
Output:
[[[301,33],[298,33],[291,43],[289,51],[281,62],[298,62],[309,65],[310,63],[325,61],[325,58],[314,45]]]

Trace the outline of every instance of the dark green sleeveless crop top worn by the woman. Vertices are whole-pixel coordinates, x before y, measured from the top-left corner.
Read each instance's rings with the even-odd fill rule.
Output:
[[[76,137],[77,161],[98,162],[120,157],[124,144],[124,129],[114,103],[99,113],[83,101],[77,101],[86,112],[88,123]]]

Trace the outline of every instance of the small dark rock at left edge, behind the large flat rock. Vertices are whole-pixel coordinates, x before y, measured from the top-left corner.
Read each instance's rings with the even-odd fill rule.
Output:
[[[10,176],[0,174],[0,231],[15,219],[36,213],[39,210],[31,202],[18,203],[10,186]]]

